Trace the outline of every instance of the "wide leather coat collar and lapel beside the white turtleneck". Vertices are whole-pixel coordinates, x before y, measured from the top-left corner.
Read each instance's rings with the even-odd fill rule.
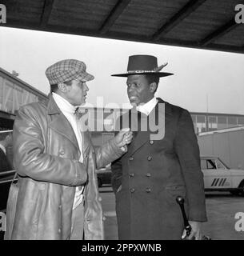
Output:
[[[59,110],[51,94],[49,94],[49,98],[47,114],[50,116],[50,128],[58,132],[58,134],[62,134],[64,137],[68,138],[79,150],[78,142],[70,122],[66,119],[65,115],[62,114],[62,111]]]

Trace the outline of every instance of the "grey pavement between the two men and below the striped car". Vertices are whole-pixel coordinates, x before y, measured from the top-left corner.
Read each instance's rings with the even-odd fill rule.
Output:
[[[102,209],[106,216],[104,222],[105,239],[118,240],[115,198],[110,186],[99,188]],[[244,198],[228,192],[206,193],[206,212],[208,222],[202,223],[202,232],[213,240],[244,240]],[[243,213],[243,219],[235,218]],[[240,231],[235,230],[239,222]]]

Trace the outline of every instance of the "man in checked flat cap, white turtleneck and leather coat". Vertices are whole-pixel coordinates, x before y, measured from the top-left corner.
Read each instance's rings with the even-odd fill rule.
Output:
[[[48,103],[22,106],[14,122],[18,195],[9,195],[5,238],[102,239],[95,169],[124,154],[132,134],[123,130],[95,152],[77,111],[94,76],[84,62],[66,59],[50,66],[46,77]]]

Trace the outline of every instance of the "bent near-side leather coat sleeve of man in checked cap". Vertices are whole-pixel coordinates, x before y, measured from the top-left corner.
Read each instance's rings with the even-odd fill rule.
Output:
[[[14,121],[14,168],[42,182],[78,186],[86,182],[86,166],[78,160],[45,153],[42,129],[33,110],[22,107]]]

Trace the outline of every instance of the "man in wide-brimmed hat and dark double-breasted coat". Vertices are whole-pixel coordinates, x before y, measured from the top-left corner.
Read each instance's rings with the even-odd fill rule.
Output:
[[[193,236],[201,239],[206,206],[199,149],[187,110],[155,98],[160,72],[157,58],[133,55],[127,73],[132,110],[118,119],[129,123],[134,139],[126,154],[112,163],[119,239],[181,239],[184,222],[178,196],[185,201]],[[117,127],[117,129],[118,129]],[[155,130],[154,127],[158,127]]]

